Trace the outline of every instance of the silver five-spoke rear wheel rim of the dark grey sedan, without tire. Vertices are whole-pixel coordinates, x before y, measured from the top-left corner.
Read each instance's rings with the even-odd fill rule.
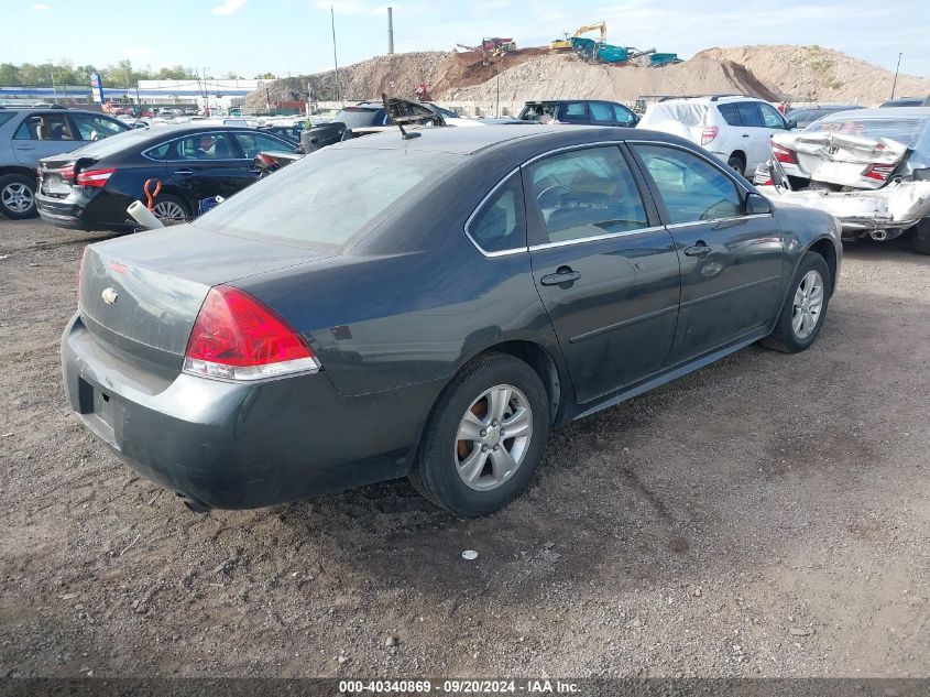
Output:
[[[499,384],[481,393],[466,411],[456,439],[456,470],[477,491],[506,482],[523,464],[533,436],[526,395]]]

